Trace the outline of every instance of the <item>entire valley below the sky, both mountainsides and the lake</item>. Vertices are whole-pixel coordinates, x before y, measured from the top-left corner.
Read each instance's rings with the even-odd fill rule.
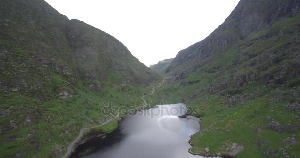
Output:
[[[300,0],[240,0],[150,67],[44,0],[0,8],[0,158],[300,157]]]

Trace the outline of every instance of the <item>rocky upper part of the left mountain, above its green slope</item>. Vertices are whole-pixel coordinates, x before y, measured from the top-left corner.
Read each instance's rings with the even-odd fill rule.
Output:
[[[82,21],[69,20],[43,0],[5,0],[0,7],[5,8],[0,11],[1,19],[9,25],[0,25],[3,35],[0,60],[6,63],[6,69],[20,65],[27,69],[21,70],[24,73],[35,68],[42,74],[51,69],[73,81],[103,82],[112,74],[130,84],[148,84],[159,79],[119,40]],[[16,22],[18,19],[21,20]],[[9,50],[12,39],[14,47],[24,53],[18,60],[11,53],[15,50]],[[22,60],[27,55],[33,60]],[[12,84],[9,80],[0,81]],[[18,87],[11,89],[19,90]]]

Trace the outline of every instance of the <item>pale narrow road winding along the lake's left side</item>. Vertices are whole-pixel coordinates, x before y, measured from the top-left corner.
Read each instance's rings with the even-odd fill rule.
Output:
[[[161,84],[162,84],[165,80],[166,80],[166,79],[164,79],[161,83],[159,83],[159,86],[157,86],[157,87],[160,87]],[[151,91],[151,94],[150,94],[150,95],[153,95],[153,93],[154,93],[154,91],[155,91],[155,88],[157,88],[157,87],[153,87],[153,88],[152,88],[152,91]],[[144,97],[146,97],[146,96],[148,96],[148,95],[144,95],[144,96],[142,97],[142,100],[144,101],[144,106],[147,105],[147,102],[146,102],[146,100],[144,99]],[[118,118],[118,117],[119,117],[119,115],[117,115],[117,116],[114,117],[114,118]],[[74,150],[75,144],[81,139],[81,137],[83,137],[83,133],[84,133],[84,131],[85,131],[86,129],[92,129],[92,128],[97,128],[97,127],[103,126],[103,125],[105,125],[105,124],[110,123],[114,118],[111,118],[111,119],[109,119],[109,120],[103,122],[102,124],[97,125],[97,126],[94,126],[94,127],[90,127],[90,128],[82,128],[82,129],[80,130],[79,135],[77,136],[77,138],[75,138],[74,141],[71,142],[71,143],[69,144],[69,146],[68,146],[68,148],[67,148],[67,152],[65,153],[65,155],[64,155],[62,158],[69,158],[69,156],[71,155],[71,153],[72,153],[73,150]]]

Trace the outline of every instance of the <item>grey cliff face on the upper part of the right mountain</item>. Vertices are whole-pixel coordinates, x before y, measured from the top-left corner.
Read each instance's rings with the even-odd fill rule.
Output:
[[[286,21],[289,26],[285,28],[284,26],[279,28],[276,25],[283,22],[283,18],[298,15],[299,5],[299,0],[241,0],[225,22],[210,36],[181,50],[166,72],[170,72],[177,78],[185,78],[192,72],[204,69],[205,64],[214,62],[214,57],[234,51],[233,48],[239,48],[237,51],[242,52],[253,43],[260,42],[259,40],[271,37],[280,38],[278,36],[282,34],[287,36],[287,34],[297,32],[296,21],[294,24],[292,20]],[[283,23],[282,25],[285,25]],[[249,57],[250,59],[252,58]],[[220,63],[219,66],[222,64],[225,63]]]

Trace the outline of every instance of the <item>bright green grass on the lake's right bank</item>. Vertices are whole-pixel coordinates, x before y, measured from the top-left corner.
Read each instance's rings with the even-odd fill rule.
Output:
[[[237,155],[238,158],[260,158],[263,152],[270,147],[276,150],[276,154],[279,156],[282,156],[282,153],[279,152],[281,148],[284,148],[291,155],[299,155],[299,150],[297,150],[299,143],[289,148],[284,147],[286,144],[284,139],[294,134],[298,135],[299,129],[295,129],[292,133],[278,133],[268,128],[271,121],[279,122],[282,126],[285,124],[297,126],[299,119],[293,118],[295,112],[289,111],[285,107],[290,98],[283,97],[281,102],[273,103],[271,100],[276,98],[278,92],[266,91],[259,87],[260,85],[254,82],[244,91],[247,94],[255,92],[260,96],[259,98],[249,99],[233,107],[225,106],[224,97],[214,95],[199,102],[188,102],[188,106],[199,107],[202,118],[202,132],[192,136],[191,144],[193,148],[191,151],[205,153],[205,147],[209,147],[208,154],[218,152],[226,154],[226,143],[234,142],[245,148]],[[257,91],[257,89],[260,90]],[[161,89],[157,93],[161,94]],[[287,91],[287,93],[290,92]],[[168,94],[172,95],[171,93]],[[255,132],[258,128],[261,132]],[[265,142],[263,149],[259,149],[257,146],[259,140]]]

